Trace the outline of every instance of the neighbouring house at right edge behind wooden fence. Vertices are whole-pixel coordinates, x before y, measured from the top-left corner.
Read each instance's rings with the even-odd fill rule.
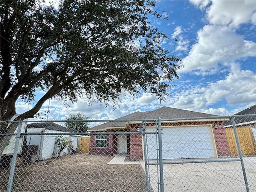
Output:
[[[255,116],[247,116],[255,114]],[[256,105],[246,108],[236,114],[234,118],[238,141],[243,156],[256,155]],[[233,125],[225,124],[228,146],[233,156],[238,155]]]

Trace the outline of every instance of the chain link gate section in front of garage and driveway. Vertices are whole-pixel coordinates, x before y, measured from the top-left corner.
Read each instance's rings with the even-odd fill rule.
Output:
[[[197,123],[193,124],[195,120]],[[241,120],[246,120],[246,123]],[[191,126],[194,127],[190,129]],[[146,134],[143,136],[147,152],[144,162],[152,191],[256,190],[256,115],[168,120],[159,118],[155,132],[148,132],[152,131],[149,127],[146,126]],[[173,130],[168,132],[168,129]],[[157,135],[154,142],[151,134]],[[206,142],[212,142],[207,146],[212,147],[205,148]],[[177,144],[180,146],[174,149],[172,145]],[[152,146],[155,147],[154,156],[151,154]],[[182,150],[192,150],[192,153],[186,151],[189,155],[184,156],[184,153],[179,153]]]

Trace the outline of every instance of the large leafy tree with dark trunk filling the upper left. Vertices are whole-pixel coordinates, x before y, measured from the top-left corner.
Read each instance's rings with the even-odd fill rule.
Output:
[[[83,0],[55,9],[40,0],[0,1],[0,120],[14,116],[18,98],[34,102],[38,90],[45,94],[17,120],[33,117],[49,98],[116,105],[122,93],[148,91],[161,102],[182,66],[161,47],[168,36],[148,20],[162,18],[154,5]],[[14,129],[1,124],[1,133]]]

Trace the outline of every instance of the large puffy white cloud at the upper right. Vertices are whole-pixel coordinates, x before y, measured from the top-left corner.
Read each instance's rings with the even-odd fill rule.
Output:
[[[214,74],[225,62],[256,56],[256,43],[236,33],[241,24],[256,25],[256,1],[190,0],[192,4],[206,10],[209,24],[197,34],[194,44],[182,62],[180,72],[194,71],[194,74]]]

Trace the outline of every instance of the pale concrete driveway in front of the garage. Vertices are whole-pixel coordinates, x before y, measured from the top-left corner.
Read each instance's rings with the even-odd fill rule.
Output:
[[[234,159],[234,158],[233,158]],[[201,160],[201,159],[200,159]],[[256,158],[243,158],[250,192],[256,191]],[[164,160],[170,162],[174,160]],[[177,161],[177,160],[175,160]],[[184,160],[183,160],[184,161]],[[150,161],[153,162],[153,161]],[[140,161],[145,170],[144,161]],[[211,162],[189,164],[164,164],[164,192],[244,192],[244,176],[241,163]],[[149,166],[150,184],[154,192],[158,188],[156,165]],[[159,179],[160,182],[160,179]]]

